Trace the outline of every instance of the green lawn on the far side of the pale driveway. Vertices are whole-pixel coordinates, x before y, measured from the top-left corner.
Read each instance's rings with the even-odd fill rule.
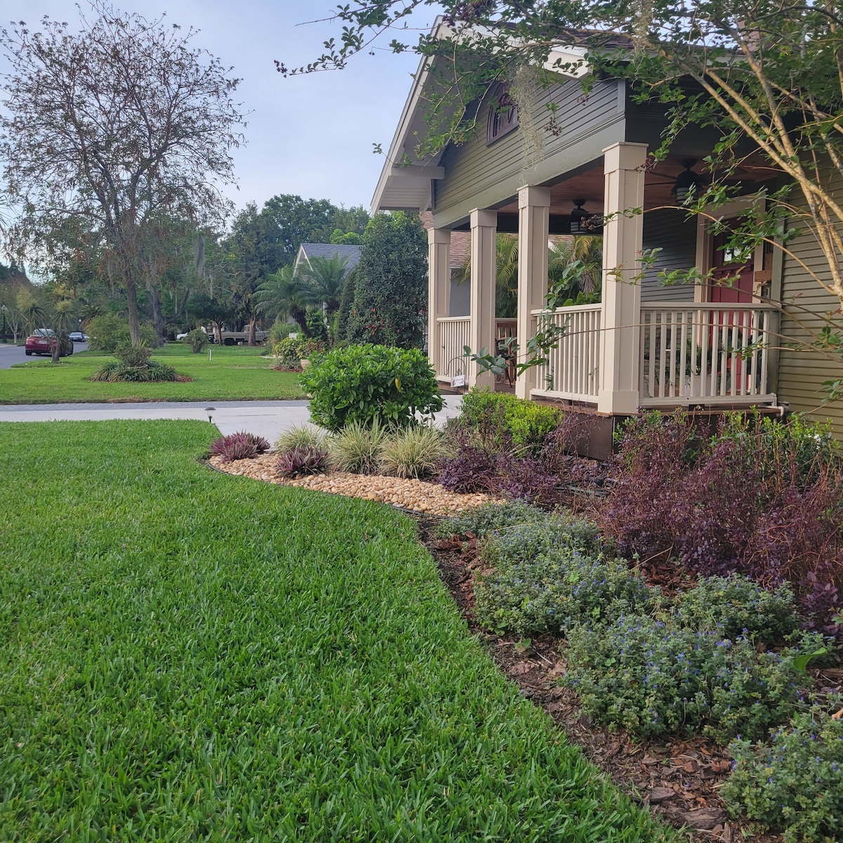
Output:
[[[33,357],[0,370],[0,404],[56,404],[74,401],[205,401],[301,398],[298,375],[273,372],[271,360],[260,348],[214,347],[191,354],[189,346],[173,343],[155,352],[190,383],[95,384],[86,380],[95,368],[113,357],[102,352],[81,352],[56,364]]]

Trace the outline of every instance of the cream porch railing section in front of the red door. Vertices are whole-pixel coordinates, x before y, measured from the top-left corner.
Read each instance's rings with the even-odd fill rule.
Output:
[[[641,405],[775,401],[777,324],[761,304],[642,304]]]

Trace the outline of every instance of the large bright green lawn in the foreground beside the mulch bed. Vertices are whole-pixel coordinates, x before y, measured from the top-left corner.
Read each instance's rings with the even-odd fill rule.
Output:
[[[0,425],[0,840],[658,840],[414,525],[208,425]]]

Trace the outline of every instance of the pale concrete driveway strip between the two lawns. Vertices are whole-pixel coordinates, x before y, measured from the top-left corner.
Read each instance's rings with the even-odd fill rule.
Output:
[[[436,421],[459,416],[461,395],[445,395]],[[0,421],[105,421],[107,419],[196,419],[213,423],[223,434],[245,430],[270,443],[285,430],[309,421],[308,401],[148,401],[137,404],[5,404]]]

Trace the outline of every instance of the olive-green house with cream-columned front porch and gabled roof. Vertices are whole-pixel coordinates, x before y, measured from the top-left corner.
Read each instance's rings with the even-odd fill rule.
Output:
[[[550,62],[576,57],[564,46],[556,53]],[[476,131],[467,142],[407,166],[427,131],[428,61],[413,80],[373,211],[432,215],[429,354],[443,382],[464,373],[469,385],[494,388],[494,377],[470,361],[464,346],[491,350],[514,332],[524,347],[538,320],[550,318],[563,336],[546,365],[516,380],[522,398],[555,400],[609,419],[642,408],[783,412],[789,406],[831,417],[843,433],[843,411],[822,405],[821,389],[843,374],[839,364],[792,347],[808,336],[812,319],[819,326],[822,314],[838,307],[804,271],[821,269],[816,244],[809,236],[796,239],[787,259],[769,246],[732,254],[708,217],[682,207],[715,137],[685,132],[668,158],[652,166],[647,155],[660,144],[663,110],[636,104],[622,79],[594,80],[584,96],[579,79],[559,77],[549,87],[537,85],[530,115],[508,102],[505,84],[491,86],[477,104]],[[553,131],[544,131],[551,114]],[[536,132],[523,131],[528,121],[539,128],[540,148]],[[747,164],[738,198],[713,216],[745,216],[769,180],[769,169]],[[602,300],[543,314],[549,236],[588,232],[595,221],[603,239]],[[468,314],[449,309],[453,232],[470,234]],[[499,232],[518,235],[518,318],[508,333],[495,314]],[[655,263],[642,268],[642,253],[653,249],[660,250]],[[691,267],[738,280],[663,283],[663,271]],[[798,315],[789,310],[797,300]]]

